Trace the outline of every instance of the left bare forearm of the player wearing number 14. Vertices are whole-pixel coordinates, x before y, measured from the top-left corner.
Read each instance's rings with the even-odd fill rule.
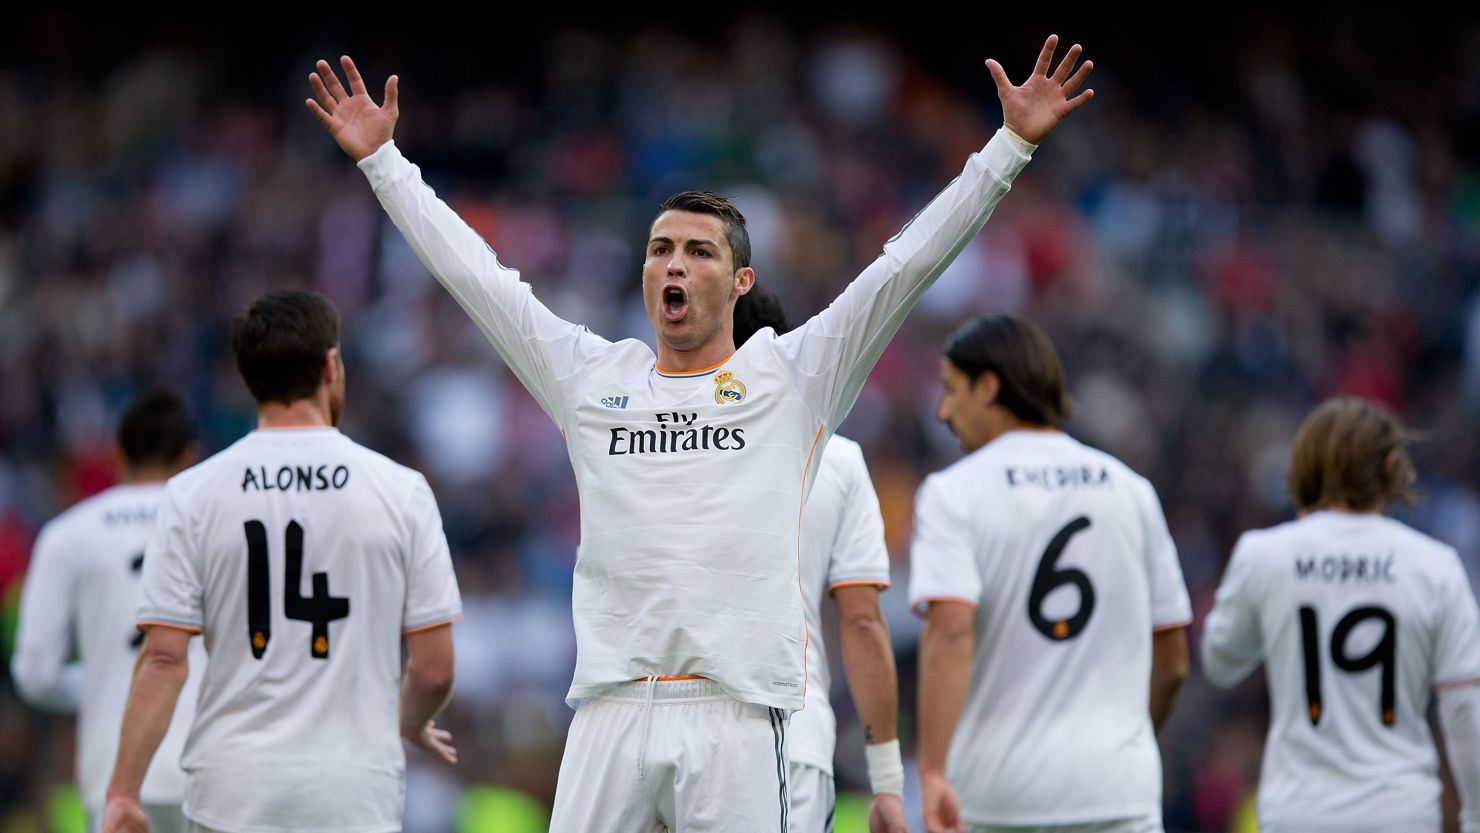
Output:
[[[164,740],[175,703],[189,675],[189,633],[173,627],[151,627],[133,664],[133,687],[123,712],[118,758],[108,781],[108,799],[138,800],[149,761]]]

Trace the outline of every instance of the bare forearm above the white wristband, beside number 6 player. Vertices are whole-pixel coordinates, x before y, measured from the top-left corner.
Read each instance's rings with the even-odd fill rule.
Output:
[[[889,626],[879,611],[879,589],[838,587],[833,601],[842,667],[863,722],[864,743],[888,743],[898,737],[900,687]]]

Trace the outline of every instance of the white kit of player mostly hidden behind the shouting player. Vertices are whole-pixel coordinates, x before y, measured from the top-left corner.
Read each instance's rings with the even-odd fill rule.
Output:
[[[787,732],[793,833],[830,829],[838,719],[827,697],[832,672],[821,641],[821,604],[836,587],[851,584],[888,587],[889,552],[863,448],[852,439],[833,436],[802,513],[802,593],[811,638],[807,707],[792,715]]]

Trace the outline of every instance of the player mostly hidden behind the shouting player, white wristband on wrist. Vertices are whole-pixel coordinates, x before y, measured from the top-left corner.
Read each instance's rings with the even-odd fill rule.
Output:
[[[790,331],[780,299],[762,289],[736,300],[734,339],[744,345],[770,327]],[[807,707],[792,716],[787,787],[792,833],[830,832],[836,790],[833,750],[838,719],[832,710],[832,672],[821,639],[823,596],[838,605],[838,648],[848,689],[863,722],[864,756],[873,787],[869,808],[872,833],[909,833],[904,820],[904,763],[898,740],[898,678],[889,626],[879,611],[879,593],[889,587],[889,550],[884,546],[884,515],[869,479],[863,448],[835,435],[823,450],[821,468],[802,513],[802,595],[807,607]]]

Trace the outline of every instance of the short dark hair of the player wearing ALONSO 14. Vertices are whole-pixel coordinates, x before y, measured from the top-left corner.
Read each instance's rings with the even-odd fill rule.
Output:
[[[293,404],[318,391],[324,354],[339,345],[339,311],[311,290],[272,290],[231,323],[237,370],[258,402]]]

